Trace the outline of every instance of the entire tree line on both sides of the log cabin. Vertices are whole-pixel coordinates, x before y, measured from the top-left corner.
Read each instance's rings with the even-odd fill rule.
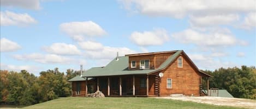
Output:
[[[40,102],[69,97],[72,86],[69,79],[79,75],[80,71],[67,69],[66,74],[58,68],[40,72],[39,76],[21,70],[13,72],[0,70],[0,100],[17,105],[33,105]],[[210,87],[227,89],[236,98],[256,99],[256,69],[242,66],[241,68],[219,68],[214,71],[205,70],[210,78]],[[206,87],[206,79],[203,80]]]

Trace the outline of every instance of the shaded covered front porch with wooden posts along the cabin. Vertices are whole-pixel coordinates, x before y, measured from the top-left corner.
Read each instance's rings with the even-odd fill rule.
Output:
[[[94,91],[101,91],[105,96],[158,96],[158,75],[122,75],[94,77]],[[86,83],[86,94],[88,87]]]

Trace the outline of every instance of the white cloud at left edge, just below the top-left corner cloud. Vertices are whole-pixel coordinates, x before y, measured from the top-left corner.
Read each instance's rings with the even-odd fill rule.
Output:
[[[8,26],[8,25],[29,25],[37,23],[37,21],[34,20],[33,17],[29,16],[27,13],[25,14],[16,14],[11,11],[1,11],[0,15],[1,19],[1,25]]]

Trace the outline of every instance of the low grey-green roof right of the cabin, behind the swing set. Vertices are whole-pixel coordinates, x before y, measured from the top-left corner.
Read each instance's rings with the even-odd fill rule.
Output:
[[[207,94],[207,90],[204,90]],[[212,97],[228,97],[228,98],[234,98],[233,95],[231,95],[227,90],[225,89],[209,89],[209,96]]]

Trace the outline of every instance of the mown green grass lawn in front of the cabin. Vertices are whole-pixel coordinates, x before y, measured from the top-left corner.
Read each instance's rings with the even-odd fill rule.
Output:
[[[156,99],[156,98],[85,98],[85,97],[67,97],[59,98],[41,104],[24,107],[25,109],[45,109],[45,108],[236,108],[228,106],[215,106],[207,104],[198,104],[195,102]]]

